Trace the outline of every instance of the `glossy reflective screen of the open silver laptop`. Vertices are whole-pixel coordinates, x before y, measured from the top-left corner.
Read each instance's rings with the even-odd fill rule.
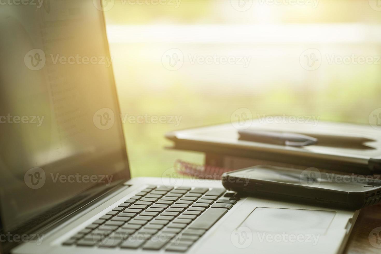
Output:
[[[0,8],[3,230],[130,178],[104,19],[96,1]],[[97,187],[97,188],[96,188]]]

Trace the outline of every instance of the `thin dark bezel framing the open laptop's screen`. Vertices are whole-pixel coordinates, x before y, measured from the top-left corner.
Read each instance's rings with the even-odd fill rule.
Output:
[[[99,0],[99,2],[101,2],[101,0]],[[97,10],[97,11],[99,11],[99,10]],[[104,12],[103,11],[99,11],[99,12],[102,12],[100,14],[100,19],[101,19],[100,22],[102,24],[102,27],[101,27],[102,34],[101,35],[103,37],[103,43],[106,47],[104,50],[105,50],[107,56],[110,57],[109,42],[107,40],[107,33],[106,33],[106,20],[105,20]],[[115,110],[117,110],[116,113],[117,113],[117,115],[119,115],[120,114],[120,104],[119,104],[117,89],[116,89],[116,85],[115,85],[115,78],[114,78],[114,71],[113,71],[112,63],[110,63],[110,67],[108,69],[109,69],[109,75],[110,75],[110,84],[112,85],[112,88],[111,88],[112,97],[113,97],[112,99],[115,102]],[[125,134],[123,131],[122,122],[120,120],[118,120],[118,118],[116,118],[115,123],[118,125],[118,129],[119,129],[118,132],[119,132],[120,139],[125,141]],[[20,235],[20,236],[21,235],[35,234],[37,232],[38,233],[44,233],[47,230],[50,230],[51,228],[56,227],[57,224],[61,224],[62,221],[69,219],[70,217],[72,217],[72,216],[78,214],[79,212],[83,211],[83,209],[86,209],[88,207],[88,204],[93,204],[93,201],[98,200],[100,197],[105,196],[105,195],[109,194],[110,192],[115,191],[115,189],[119,189],[120,187],[125,186],[124,183],[131,179],[130,165],[128,162],[127,147],[126,147],[125,142],[123,142],[123,145],[120,147],[120,151],[118,151],[118,152],[121,153],[122,160],[125,162],[126,168],[121,170],[121,171],[118,171],[115,174],[115,176],[116,176],[115,179],[118,179],[117,181],[112,182],[112,184],[110,184],[107,188],[102,188],[101,190],[99,190],[100,189],[99,186],[101,184],[96,184],[89,189],[83,190],[82,192],[73,196],[69,200],[74,199],[80,195],[85,195],[86,198],[83,198],[82,200],[80,200],[76,203],[73,203],[72,206],[66,207],[66,210],[62,211],[61,209],[59,209],[61,207],[62,203],[55,206],[53,209],[56,210],[57,212],[54,214],[51,214],[52,219],[47,220],[47,222],[44,224],[39,224],[37,226],[36,225],[30,226],[30,225],[28,225],[29,224],[28,222],[30,220],[35,219],[36,217],[44,216],[46,211],[42,212],[42,214],[39,214],[36,217],[30,218],[29,220],[27,220],[27,222],[22,223],[17,228],[13,228],[13,229],[9,229],[9,230],[7,229],[7,233],[9,232],[11,235]],[[2,216],[3,209],[5,209],[5,208],[2,207],[1,202],[0,202],[0,235],[4,233],[4,227],[3,227],[4,221],[3,221],[3,216]],[[13,242],[5,241],[3,243],[0,242],[0,250],[2,251],[2,253],[8,253],[12,248],[18,246],[21,243],[23,243],[23,242],[22,241],[19,241],[18,243],[16,243],[15,241],[13,241]]]

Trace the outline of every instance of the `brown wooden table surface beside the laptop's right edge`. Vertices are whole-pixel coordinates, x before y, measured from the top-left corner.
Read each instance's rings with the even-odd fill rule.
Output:
[[[380,228],[374,230],[377,227]],[[374,246],[370,241],[372,241]],[[343,253],[381,253],[381,204],[370,206],[360,211]]]

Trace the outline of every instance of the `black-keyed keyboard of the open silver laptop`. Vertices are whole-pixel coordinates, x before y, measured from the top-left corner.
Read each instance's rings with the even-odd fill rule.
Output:
[[[184,252],[238,199],[219,188],[150,185],[63,245]]]

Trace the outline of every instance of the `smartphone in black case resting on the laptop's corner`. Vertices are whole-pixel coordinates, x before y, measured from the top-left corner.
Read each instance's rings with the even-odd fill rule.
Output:
[[[379,203],[379,178],[326,173],[317,168],[301,171],[260,165],[224,173],[221,180],[227,190],[238,193],[319,206],[360,209]]]

